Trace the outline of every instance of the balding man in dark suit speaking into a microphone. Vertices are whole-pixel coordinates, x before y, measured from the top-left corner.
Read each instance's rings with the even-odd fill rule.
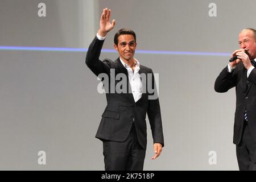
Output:
[[[217,77],[216,92],[227,92],[236,86],[234,138],[240,170],[256,170],[256,30],[245,28],[239,34],[237,59]]]

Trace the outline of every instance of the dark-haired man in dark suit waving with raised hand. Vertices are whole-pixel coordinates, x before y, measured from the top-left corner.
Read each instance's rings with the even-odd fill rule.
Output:
[[[114,36],[118,59],[99,60],[105,36],[115,25],[115,20],[110,23],[110,16],[111,10],[104,9],[100,29],[89,46],[85,61],[104,82],[108,102],[96,138],[103,142],[105,170],[143,170],[147,144],[146,113],[154,140],[152,159],[160,155],[164,146],[154,75],[150,68],[134,58],[136,35],[128,28],[119,30]],[[148,88],[151,85],[154,92]]]

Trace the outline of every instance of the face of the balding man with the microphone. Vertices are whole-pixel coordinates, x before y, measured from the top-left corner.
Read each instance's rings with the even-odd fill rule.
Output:
[[[246,49],[250,60],[256,58],[256,40],[251,30],[244,30],[239,34],[239,46],[241,49]]]

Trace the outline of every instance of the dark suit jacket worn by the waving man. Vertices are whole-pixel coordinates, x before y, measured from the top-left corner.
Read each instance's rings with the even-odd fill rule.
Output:
[[[104,61],[99,60],[103,43],[104,40],[98,40],[97,37],[94,38],[93,42],[89,46],[85,63],[96,76],[100,73],[106,73],[110,78],[110,75],[113,76],[113,74],[110,74],[110,69],[114,69],[114,76],[118,73],[125,74],[127,78],[127,92],[110,93],[111,86],[108,86],[109,90],[106,90],[105,84],[108,84],[108,82],[104,83],[108,104],[102,114],[96,138],[122,142],[128,137],[131,126],[134,123],[138,141],[141,146],[146,149],[147,126],[145,119],[147,113],[154,143],[162,143],[164,146],[162,119],[158,97],[155,100],[149,100],[148,96],[150,96],[150,93],[146,90],[146,93],[142,93],[142,97],[135,102],[133,94],[128,90],[130,89],[130,85],[127,69],[123,67],[119,58],[115,61],[109,59],[105,59]],[[152,73],[152,70],[140,65],[139,73]],[[119,81],[120,80],[115,80],[115,85],[117,85]],[[154,77],[149,81],[154,83]],[[154,89],[156,90],[156,88]]]

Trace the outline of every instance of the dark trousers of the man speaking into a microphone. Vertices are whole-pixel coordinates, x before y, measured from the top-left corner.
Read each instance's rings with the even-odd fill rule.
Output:
[[[236,146],[237,161],[240,171],[256,170],[256,142],[251,137],[247,122],[243,123],[243,134]]]

